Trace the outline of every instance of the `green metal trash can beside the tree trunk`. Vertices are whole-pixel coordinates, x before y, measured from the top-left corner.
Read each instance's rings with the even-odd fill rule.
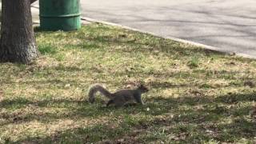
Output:
[[[80,0],[39,0],[42,30],[81,28]]]

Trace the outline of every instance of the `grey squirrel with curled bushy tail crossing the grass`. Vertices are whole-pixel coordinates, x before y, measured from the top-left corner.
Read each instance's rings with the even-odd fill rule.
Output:
[[[101,92],[106,98],[110,100],[107,102],[106,106],[110,106],[110,104],[114,104],[114,106],[124,106],[127,102],[135,101],[140,104],[144,104],[142,102],[142,94],[148,92],[148,88],[146,86],[140,85],[135,89],[129,90],[118,90],[115,93],[110,93],[110,91],[106,90],[103,86],[96,84],[92,86],[89,90],[89,102],[94,103],[94,95],[97,92]]]

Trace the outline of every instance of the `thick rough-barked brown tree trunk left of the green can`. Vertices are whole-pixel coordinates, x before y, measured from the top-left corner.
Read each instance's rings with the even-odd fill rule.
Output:
[[[0,62],[30,63],[38,57],[30,0],[2,0]]]

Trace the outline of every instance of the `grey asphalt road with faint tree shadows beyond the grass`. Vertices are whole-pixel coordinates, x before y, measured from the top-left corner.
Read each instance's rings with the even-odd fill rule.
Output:
[[[81,0],[82,15],[256,58],[255,0]]]

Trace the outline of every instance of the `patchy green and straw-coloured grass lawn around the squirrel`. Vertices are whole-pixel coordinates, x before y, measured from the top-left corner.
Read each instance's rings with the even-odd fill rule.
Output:
[[[255,142],[253,59],[98,24],[36,38],[36,62],[0,64],[0,143]],[[87,102],[140,82],[145,106]]]

